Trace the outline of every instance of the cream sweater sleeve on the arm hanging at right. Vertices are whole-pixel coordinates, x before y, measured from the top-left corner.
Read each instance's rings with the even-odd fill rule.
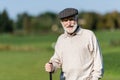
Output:
[[[93,72],[91,76],[93,78],[92,80],[99,80],[103,76],[103,58],[98,40],[94,34],[92,36],[91,44],[93,47],[94,58]]]

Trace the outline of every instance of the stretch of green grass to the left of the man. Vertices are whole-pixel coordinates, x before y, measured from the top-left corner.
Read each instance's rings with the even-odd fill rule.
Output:
[[[44,64],[55,35],[0,35],[0,80],[47,80]]]

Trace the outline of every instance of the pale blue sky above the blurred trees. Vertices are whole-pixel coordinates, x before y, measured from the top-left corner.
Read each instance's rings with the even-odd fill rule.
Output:
[[[6,9],[13,19],[17,14],[23,12],[31,15],[38,15],[46,11],[58,13],[66,7],[101,14],[115,10],[120,12],[120,0],[0,0],[0,12]]]

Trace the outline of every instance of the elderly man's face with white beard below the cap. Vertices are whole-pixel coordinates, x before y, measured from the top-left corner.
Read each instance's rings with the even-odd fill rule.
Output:
[[[73,16],[61,19],[61,24],[67,33],[73,33],[77,28],[77,18]]]

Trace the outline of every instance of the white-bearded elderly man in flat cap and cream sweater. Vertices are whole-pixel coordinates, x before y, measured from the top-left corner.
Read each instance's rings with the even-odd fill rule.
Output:
[[[78,25],[78,10],[66,8],[58,17],[63,26],[47,72],[62,68],[65,80],[99,80],[103,76],[102,54],[95,34]]]

